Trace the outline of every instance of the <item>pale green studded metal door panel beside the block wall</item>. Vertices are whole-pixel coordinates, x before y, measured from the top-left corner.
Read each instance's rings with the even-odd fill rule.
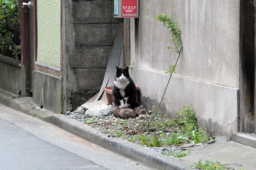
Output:
[[[61,0],[37,1],[37,61],[60,68]]]

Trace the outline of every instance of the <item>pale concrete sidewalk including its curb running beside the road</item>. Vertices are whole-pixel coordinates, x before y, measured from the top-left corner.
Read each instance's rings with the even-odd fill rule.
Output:
[[[191,148],[190,155],[174,158],[119,138],[107,137],[82,122],[70,119],[65,115],[56,115],[44,109],[31,109],[33,107],[37,108],[32,98],[18,98],[11,93],[0,91],[0,103],[33,117],[43,119],[106,149],[131,159],[139,160],[158,170],[186,170],[200,160],[202,162],[219,160],[222,164],[234,170],[256,169],[256,161],[254,160],[256,148],[233,141],[194,147]]]

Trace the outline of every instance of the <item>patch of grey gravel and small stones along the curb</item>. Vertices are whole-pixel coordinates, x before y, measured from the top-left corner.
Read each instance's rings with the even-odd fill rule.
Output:
[[[137,119],[128,119],[123,120],[120,118],[116,118],[113,116],[112,112],[107,113],[102,116],[98,117],[87,117],[84,115],[81,111],[67,111],[64,113],[64,115],[68,116],[69,118],[76,119],[77,121],[81,121],[93,128],[95,128],[97,131],[106,134],[108,137],[120,137],[122,139],[131,141],[135,144],[140,144],[140,140],[138,140],[136,137],[133,140],[129,140],[132,135],[138,134],[137,129],[141,129],[141,123],[146,123],[146,115],[140,115],[140,117]],[[146,135],[154,135],[158,134],[157,131],[146,131]],[[169,135],[170,133],[165,133],[165,135]],[[202,144],[195,144],[196,145],[202,145]],[[150,149],[152,151],[172,155],[177,150],[186,150],[189,147],[181,147],[176,145],[168,145],[168,146],[162,146],[162,147],[151,147],[142,145],[147,149]],[[193,145],[194,146],[194,145]]]

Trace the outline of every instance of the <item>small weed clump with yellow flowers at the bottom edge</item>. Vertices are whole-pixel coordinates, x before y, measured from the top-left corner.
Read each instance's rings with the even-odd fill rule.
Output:
[[[225,167],[219,161],[205,161],[205,163],[198,161],[196,166],[193,167],[199,170],[230,170],[229,167]]]

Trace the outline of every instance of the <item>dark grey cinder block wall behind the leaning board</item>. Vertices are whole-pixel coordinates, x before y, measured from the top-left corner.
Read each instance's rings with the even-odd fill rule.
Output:
[[[75,110],[101,87],[115,34],[113,0],[63,0],[64,110]]]

